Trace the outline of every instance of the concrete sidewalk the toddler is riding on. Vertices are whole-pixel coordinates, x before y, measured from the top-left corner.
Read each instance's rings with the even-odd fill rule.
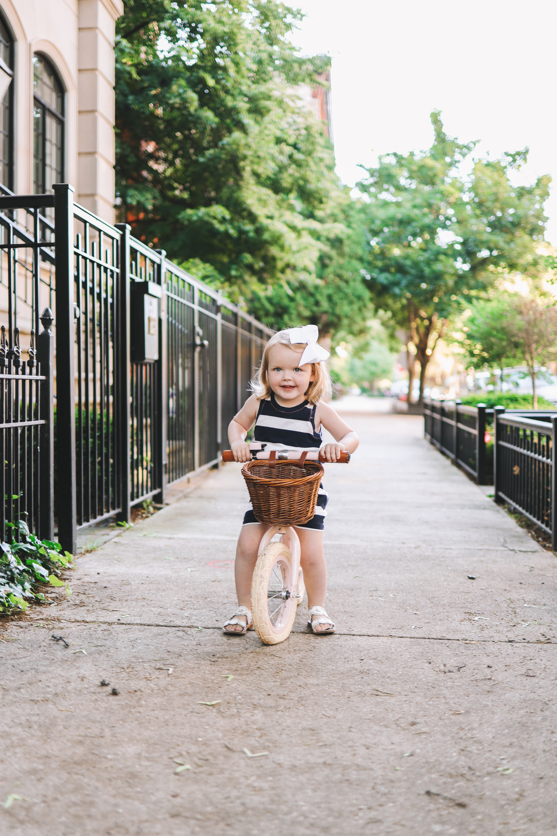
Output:
[[[347,420],[362,444],[327,468],[337,635],[308,634],[305,606],[281,645],[220,632],[235,465],[78,558],[71,603],[3,625],[0,801],[23,798],[0,832],[557,832],[554,555],[419,417]]]

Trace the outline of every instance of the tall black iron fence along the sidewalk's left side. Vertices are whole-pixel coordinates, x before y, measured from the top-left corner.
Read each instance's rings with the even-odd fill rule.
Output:
[[[272,332],[71,186],[0,191],[0,533],[26,515],[52,539],[56,512],[73,552],[78,528],[219,461]]]

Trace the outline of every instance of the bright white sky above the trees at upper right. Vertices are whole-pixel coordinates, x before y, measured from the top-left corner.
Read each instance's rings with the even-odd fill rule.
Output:
[[[337,172],[350,186],[377,154],[428,148],[442,111],[475,155],[529,146],[524,182],[550,174],[546,237],[557,244],[555,0],[288,0],[307,17],[303,54],[332,56]]]

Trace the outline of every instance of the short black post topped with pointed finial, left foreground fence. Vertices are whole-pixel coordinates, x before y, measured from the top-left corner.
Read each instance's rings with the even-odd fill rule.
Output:
[[[37,338],[38,373],[44,376],[40,387],[40,426],[38,442],[38,537],[54,539],[54,334],[53,312],[44,308],[43,331]]]

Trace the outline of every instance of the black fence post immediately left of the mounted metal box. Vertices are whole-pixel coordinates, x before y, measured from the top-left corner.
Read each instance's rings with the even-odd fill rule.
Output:
[[[129,523],[131,517],[131,416],[129,398],[131,395],[130,357],[129,357],[129,232],[127,223],[117,223],[120,235],[118,247],[118,374],[117,388],[114,393],[114,405],[119,415],[119,482],[120,507],[118,518],[122,523]]]

